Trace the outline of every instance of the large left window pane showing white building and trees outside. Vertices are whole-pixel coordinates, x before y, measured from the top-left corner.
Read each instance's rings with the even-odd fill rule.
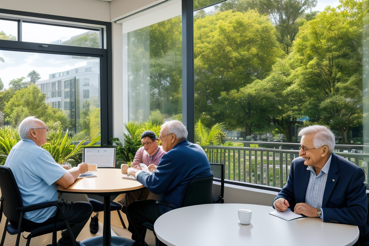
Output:
[[[13,128],[30,115],[51,132],[69,129],[74,141],[100,134],[100,59],[0,51],[0,111]],[[85,72],[85,68],[90,72]],[[85,92],[85,79],[89,90]],[[89,105],[86,107],[85,105]]]

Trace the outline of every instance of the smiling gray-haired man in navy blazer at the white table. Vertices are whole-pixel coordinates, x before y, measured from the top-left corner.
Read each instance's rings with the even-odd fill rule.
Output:
[[[369,245],[364,171],[333,152],[333,133],[315,125],[300,131],[299,156],[291,163],[286,185],[273,201],[280,212],[318,217],[324,222],[357,225],[358,245]]]

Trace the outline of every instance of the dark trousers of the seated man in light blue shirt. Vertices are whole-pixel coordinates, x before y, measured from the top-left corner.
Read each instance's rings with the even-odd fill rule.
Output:
[[[61,211],[63,212],[65,218],[67,219],[69,224],[74,224],[70,227],[72,230],[73,236],[76,239],[79,233],[82,231],[83,227],[86,225],[86,222],[89,220],[92,214],[92,206],[89,202],[61,202],[60,203]],[[46,221],[42,223],[35,223],[28,219],[22,219],[22,227],[24,228],[35,228],[42,225],[54,224],[55,216],[50,217]],[[58,214],[57,221],[64,221],[60,212]],[[11,223],[14,228],[18,228],[18,223]],[[72,240],[70,239],[68,230],[62,231],[62,237],[59,239],[58,245],[69,246],[73,245]]]

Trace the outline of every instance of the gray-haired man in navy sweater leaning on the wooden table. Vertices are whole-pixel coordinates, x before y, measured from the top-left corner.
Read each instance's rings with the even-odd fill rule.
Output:
[[[187,184],[195,177],[208,177],[210,173],[209,160],[204,150],[197,144],[188,142],[187,129],[180,121],[169,121],[161,126],[159,140],[166,151],[152,174],[137,169],[129,169],[128,173],[135,175],[154,194],[161,194],[158,201],[174,204],[180,207],[182,194]],[[172,210],[159,205],[155,200],[132,202],[127,207],[128,231],[132,232],[134,245],[144,243],[146,229],[143,223],[154,224],[156,219]],[[141,238],[140,238],[141,236]]]

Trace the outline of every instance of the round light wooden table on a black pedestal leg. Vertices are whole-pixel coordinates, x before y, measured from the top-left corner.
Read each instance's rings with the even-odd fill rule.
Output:
[[[98,168],[94,176],[79,177],[68,188],[58,186],[61,193],[96,194],[104,197],[103,245],[111,245],[110,232],[110,196],[142,190],[145,188],[137,180],[127,179],[117,168]],[[96,240],[99,240],[96,237]]]

